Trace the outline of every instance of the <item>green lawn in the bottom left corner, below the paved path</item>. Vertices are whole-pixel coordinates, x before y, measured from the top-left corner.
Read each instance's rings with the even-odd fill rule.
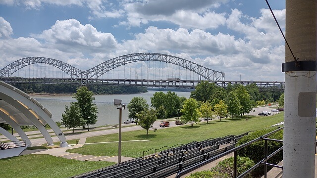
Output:
[[[78,161],[51,155],[23,155],[0,159],[0,178],[67,178],[110,166],[104,161]]]

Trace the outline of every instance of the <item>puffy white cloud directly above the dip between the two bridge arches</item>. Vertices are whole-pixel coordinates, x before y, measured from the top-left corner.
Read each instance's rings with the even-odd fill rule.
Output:
[[[32,37],[64,51],[108,52],[119,45],[112,34],[98,32],[92,25],[82,25],[75,19],[57,20],[50,29]]]

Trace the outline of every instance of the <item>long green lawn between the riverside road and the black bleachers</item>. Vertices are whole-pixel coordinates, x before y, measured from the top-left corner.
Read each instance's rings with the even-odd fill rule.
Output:
[[[137,141],[137,142],[122,142],[121,155],[127,157],[142,157],[143,151],[152,148],[159,149],[164,146],[174,146],[176,144],[186,144],[192,141],[202,141],[208,138],[217,138],[229,134],[243,134],[249,131],[255,131],[270,127],[283,121],[283,114],[276,114],[273,116],[248,116],[249,120],[240,117],[222,119],[222,121],[209,121],[190,125],[171,127],[157,132],[149,131],[146,135],[145,130],[124,132],[122,133],[122,141],[125,140],[151,140],[152,142]],[[86,143],[98,143],[118,141],[118,134],[108,134],[102,136],[89,137]],[[162,148],[167,149],[167,147]],[[160,150],[159,150],[160,151]],[[68,152],[80,153],[84,155],[95,156],[115,156],[118,153],[118,143],[100,143],[88,144],[81,148],[70,149]],[[144,153],[144,155],[154,154],[154,150]]]

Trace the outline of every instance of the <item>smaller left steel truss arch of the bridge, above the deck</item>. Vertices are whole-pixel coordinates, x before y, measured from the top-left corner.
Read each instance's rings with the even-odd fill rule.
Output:
[[[61,71],[65,72],[72,78],[82,77],[81,76],[82,71],[77,69],[76,67],[73,67],[72,65],[69,65],[60,60],[46,58],[46,57],[26,57],[26,58],[22,58],[17,61],[14,61],[0,70],[0,76],[10,77],[13,73],[18,71],[19,69],[32,65],[32,64],[38,64],[38,63],[45,63],[45,64],[52,65],[60,69]]]

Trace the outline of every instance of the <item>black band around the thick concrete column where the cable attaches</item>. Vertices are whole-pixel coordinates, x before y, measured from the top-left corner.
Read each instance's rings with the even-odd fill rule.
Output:
[[[295,61],[282,63],[282,72],[317,71],[316,61]]]

